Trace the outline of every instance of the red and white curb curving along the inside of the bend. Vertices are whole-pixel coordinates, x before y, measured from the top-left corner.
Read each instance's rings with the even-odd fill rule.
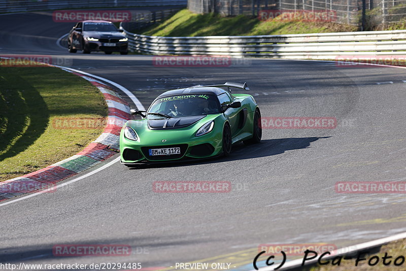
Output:
[[[0,201],[7,200],[14,196],[39,191],[40,189],[41,191],[44,191],[43,189],[47,189],[46,191],[52,192],[52,188],[50,187],[52,187],[52,185],[54,186],[55,183],[72,177],[84,170],[87,170],[93,165],[110,158],[120,149],[120,130],[123,124],[127,120],[131,119],[131,115],[128,103],[124,101],[113,88],[102,81],[109,83],[113,82],[94,76],[95,78],[99,79],[97,80],[94,79],[90,74],[74,69],[60,66],[57,67],[66,72],[82,77],[97,87],[101,93],[103,93],[109,110],[107,125],[103,133],[101,133],[95,141],[90,143],[84,150],[76,155],[42,168],[41,170],[1,182]],[[118,86],[116,83],[113,85]],[[129,91],[126,90],[126,92]],[[133,94],[131,93],[131,95]],[[138,102],[138,105],[136,104],[137,106],[141,105],[137,98],[135,98],[135,101]],[[142,107],[141,109],[144,108]]]

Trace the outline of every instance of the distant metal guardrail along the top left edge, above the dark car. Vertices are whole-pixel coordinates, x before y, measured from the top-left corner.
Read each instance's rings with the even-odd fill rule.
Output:
[[[0,0],[0,13],[81,8],[185,6],[187,0]]]

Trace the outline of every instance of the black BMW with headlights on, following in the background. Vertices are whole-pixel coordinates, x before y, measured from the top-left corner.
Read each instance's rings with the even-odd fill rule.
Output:
[[[122,29],[109,21],[87,20],[78,22],[69,32],[67,41],[69,52],[76,53],[82,50],[84,54],[90,52],[120,52],[128,53],[128,38],[122,33]]]

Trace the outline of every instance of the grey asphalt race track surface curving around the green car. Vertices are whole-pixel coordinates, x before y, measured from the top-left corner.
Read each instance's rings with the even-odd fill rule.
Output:
[[[147,55],[69,54],[56,41],[72,24],[55,23],[50,13],[2,15],[0,24],[0,55],[72,57],[71,67],[123,85],[146,108],[168,89],[247,82],[262,117],[337,120],[334,129],[265,128],[261,144],[233,146],[227,158],[132,170],[117,162],[54,193],[2,206],[0,262],[172,269],[217,257],[239,267],[252,262],[259,244],[340,248],[406,231],[404,195],[334,190],[342,181],[405,179],[406,70],[251,58],[228,67],[160,67]],[[155,193],[154,181],[229,181],[232,189]],[[55,257],[57,244],[125,244],[132,253]]]

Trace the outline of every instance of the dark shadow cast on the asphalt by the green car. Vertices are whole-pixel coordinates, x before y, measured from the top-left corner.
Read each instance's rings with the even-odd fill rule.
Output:
[[[160,168],[160,167],[176,167],[176,166],[188,166],[196,164],[211,164],[226,161],[236,161],[260,157],[268,157],[277,154],[282,154],[285,151],[306,149],[310,146],[310,143],[319,139],[327,139],[331,137],[311,137],[311,138],[285,138],[285,139],[267,139],[261,140],[259,144],[245,145],[243,143],[235,144],[232,146],[232,151],[228,157],[218,157],[193,161],[182,161],[172,163],[157,163],[157,164],[141,164],[134,167],[130,167],[131,170],[137,170],[140,168]]]

